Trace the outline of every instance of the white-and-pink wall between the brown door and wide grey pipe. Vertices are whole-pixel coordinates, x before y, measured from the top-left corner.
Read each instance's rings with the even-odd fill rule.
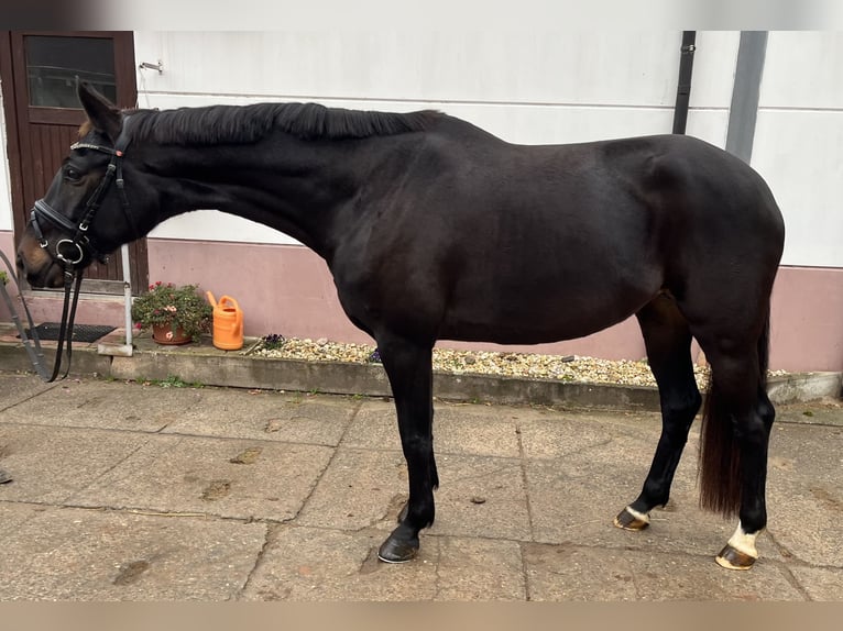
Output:
[[[689,129],[723,145],[731,88],[716,71],[718,58],[734,65],[738,37],[704,38],[712,55],[699,64],[704,89],[692,103]],[[135,55],[165,68],[139,74],[142,107],[317,101],[385,111],[435,108],[510,142],[538,144],[669,132],[680,42],[680,32],[138,32]],[[199,211],[167,221],[151,236],[151,279],[199,281],[215,294],[236,295],[247,333],[373,343],[346,319],[325,263],[285,235]],[[210,263],[204,241],[217,242]],[[632,321],[584,340],[522,350],[645,354]]]

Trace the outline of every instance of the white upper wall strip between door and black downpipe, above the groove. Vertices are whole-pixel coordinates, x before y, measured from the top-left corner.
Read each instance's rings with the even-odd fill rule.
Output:
[[[136,32],[152,91],[670,106],[679,32]]]

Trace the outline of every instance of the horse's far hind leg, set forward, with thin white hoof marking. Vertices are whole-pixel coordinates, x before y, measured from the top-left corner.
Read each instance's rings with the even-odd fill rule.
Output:
[[[641,495],[615,518],[615,525],[625,530],[643,530],[649,524],[650,510],[667,503],[688,432],[702,402],[693,377],[691,333],[676,302],[659,296],[637,318],[658,384],[661,436]]]

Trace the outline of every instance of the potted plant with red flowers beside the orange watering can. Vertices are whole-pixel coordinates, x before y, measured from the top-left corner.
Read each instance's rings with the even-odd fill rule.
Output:
[[[161,280],[132,302],[132,320],[152,329],[160,344],[186,344],[210,329],[214,309],[198,292],[198,285],[176,287]]]

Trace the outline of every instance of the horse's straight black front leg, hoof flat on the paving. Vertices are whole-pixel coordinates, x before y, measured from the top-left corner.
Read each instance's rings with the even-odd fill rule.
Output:
[[[433,343],[379,336],[386,376],[398,416],[398,431],[409,477],[409,500],[398,527],[381,545],[377,556],[387,563],[410,561],[418,552],[418,532],[434,522],[434,487],[438,485],[433,444]]]

